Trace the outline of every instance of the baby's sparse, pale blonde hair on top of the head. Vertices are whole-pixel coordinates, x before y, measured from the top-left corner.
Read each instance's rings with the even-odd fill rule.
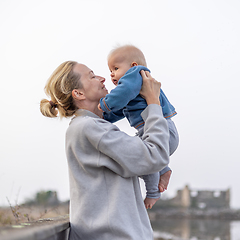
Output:
[[[108,55],[108,60],[115,54],[121,55],[124,60],[128,60],[131,63],[136,62],[138,65],[147,67],[147,62],[143,52],[133,45],[123,45],[112,49]]]

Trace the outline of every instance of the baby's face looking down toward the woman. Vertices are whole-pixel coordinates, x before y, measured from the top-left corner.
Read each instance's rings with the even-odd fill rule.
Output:
[[[118,85],[119,79],[131,68],[131,63],[126,59],[113,55],[108,59],[108,67],[113,84]]]

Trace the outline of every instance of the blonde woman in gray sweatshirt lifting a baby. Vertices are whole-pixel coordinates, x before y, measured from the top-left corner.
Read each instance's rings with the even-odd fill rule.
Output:
[[[61,64],[48,80],[50,101],[41,101],[48,117],[69,117],[66,154],[70,178],[70,239],[152,240],[138,176],[169,162],[168,128],[159,103],[161,84],[141,72],[141,95],[148,107],[142,140],[102,119],[99,100],[105,79],[77,62]]]

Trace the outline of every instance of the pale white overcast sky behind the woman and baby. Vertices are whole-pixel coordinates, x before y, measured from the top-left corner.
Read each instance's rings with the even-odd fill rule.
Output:
[[[185,184],[230,187],[240,208],[239,12],[239,0],[0,0],[0,205],[39,190],[69,198],[69,120],[41,115],[43,88],[60,63],[76,60],[112,89],[107,54],[131,43],[178,112],[168,196]]]

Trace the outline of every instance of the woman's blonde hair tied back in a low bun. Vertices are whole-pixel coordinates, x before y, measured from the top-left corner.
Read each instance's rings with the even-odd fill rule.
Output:
[[[45,93],[51,100],[42,99],[40,102],[40,111],[46,117],[60,118],[72,116],[76,109],[74,105],[72,90],[81,88],[81,76],[73,71],[77,64],[74,61],[62,63],[52,73],[45,85]]]

